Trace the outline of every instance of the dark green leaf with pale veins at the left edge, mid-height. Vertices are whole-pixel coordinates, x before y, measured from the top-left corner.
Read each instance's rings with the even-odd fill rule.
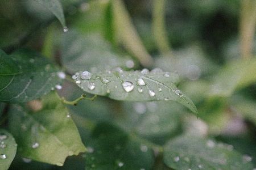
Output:
[[[65,74],[39,53],[16,50],[11,56],[0,50],[0,101],[22,103],[61,88]]]

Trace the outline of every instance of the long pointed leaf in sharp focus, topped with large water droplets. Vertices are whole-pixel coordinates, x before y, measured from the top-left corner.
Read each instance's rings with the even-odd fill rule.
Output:
[[[82,90],[94,95],[126,101],[172,100],[197,114],[193,102],[177,90],[179,77],[175,73],[163,72],[160,69],[150,72],[144,69],[140,72],[117,68],[112,72],[97,74],[80,71],[73,78]]]

